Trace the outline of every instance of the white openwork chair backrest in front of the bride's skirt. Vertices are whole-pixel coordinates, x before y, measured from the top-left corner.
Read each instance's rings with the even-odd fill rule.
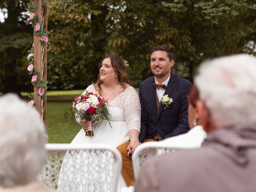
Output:
[[[46,144],[42,181],[60,192],[116,192],[122,158],[103,144]],[[59,182],[59,184],[58,184]]]

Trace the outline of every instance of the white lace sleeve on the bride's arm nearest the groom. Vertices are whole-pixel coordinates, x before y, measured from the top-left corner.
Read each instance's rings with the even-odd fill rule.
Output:
[[[124,103],[124,117],[128,131],[136,129],[140,132],[140,98],[135,89],[131,89],[126,102]]]

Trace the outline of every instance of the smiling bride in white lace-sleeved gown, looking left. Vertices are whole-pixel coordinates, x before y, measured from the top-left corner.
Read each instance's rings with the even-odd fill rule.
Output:
[[[98,94],[106,100],[112,128],[107,120],[102,120],[99,124],[93,124],[94,136],[87,137],[84,131],[88,124],[76,119],[83,128],[71,144],[102,143],[116,148],[130,140],[128,151],[134,150],[139,145],[140,99],[124,68],[124,60],[120,56],[116,54],[106,56],[99,64],[98,80],[86,88],[88,92]],[[121,187],[126,187],[126,184],[120,173],[118,191]],[[58,188],[61,189],[60,180]]]

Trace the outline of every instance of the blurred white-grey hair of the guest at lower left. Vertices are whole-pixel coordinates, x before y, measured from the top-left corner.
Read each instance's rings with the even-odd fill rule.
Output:
[[[0,186],[36,179],[46,160],[44,125],[38,112],[14,94],[0,97]]]

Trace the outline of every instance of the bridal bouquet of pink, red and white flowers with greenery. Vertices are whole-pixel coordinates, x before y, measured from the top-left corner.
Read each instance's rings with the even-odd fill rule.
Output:
[[[91,92],[86,91],[85,94],[75,97],[72,112],[75,114],[76,118],[89,122],[85,136],[94,136],[92,122],[99,123],[103,118],[109,122],[108,106],[105,100],[101,96]]]

